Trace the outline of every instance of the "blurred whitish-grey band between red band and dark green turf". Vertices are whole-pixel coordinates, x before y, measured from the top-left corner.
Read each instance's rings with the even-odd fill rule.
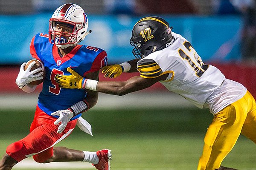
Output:
[[[0,109],[35,108],[38,94],[0,94]],[[134,92],[125,96],[99,93],[98,103],[92,109],[106,108],[195,108],[183,97],[171,93]]]

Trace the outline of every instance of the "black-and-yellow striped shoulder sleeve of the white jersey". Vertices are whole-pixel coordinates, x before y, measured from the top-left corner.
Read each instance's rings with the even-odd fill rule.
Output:
[[[137,62],[140,77],[153,79],[162,75],[163,71],[153,59],[142,59]]]

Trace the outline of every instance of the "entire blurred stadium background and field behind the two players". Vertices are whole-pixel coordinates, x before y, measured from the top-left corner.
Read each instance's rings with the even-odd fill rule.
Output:
[[[141,17],[157,15],[186,37],[205,63],[256,96],[255,0],[0,0],[0,158],[8,144],[28,133],[41,90],[39,85],[25,94],[15,84],[20,65],[31,59],[30,40],[48,32],[49,18],[64,3],[84,8],[92,33],[82,43],[105,49],[109,64],[134,59],[132,27]],[[109,79],[100,74],[100,80]],[[207,109],[196,108],[158,83],[126,96],[100,94],[83,117],[94,136],[76,129],[59,145],[90,151],[108,147],[113,150],[113,170],[196,169],[212,119]],[[256,170],[255,151],[255,144],[241,136],[224,165]],[[38,165],[30,159],[15,167],[64,168],[93,169],[84,163]]]

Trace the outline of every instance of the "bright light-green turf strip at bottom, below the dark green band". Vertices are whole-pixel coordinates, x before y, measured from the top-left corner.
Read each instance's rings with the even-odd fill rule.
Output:
[[[0,152],[4,153],[5,147],[21,136],[2,137]],[[113,155],[112,170],[196,170],[202,139],[202,135],[184,133],[95,134],[93,137],[81,134],[69,136],[58,146],[89,151],[109,148]],[[255,144],[241,137],[223,165],[239,170],[255,170],[255,151]]]

